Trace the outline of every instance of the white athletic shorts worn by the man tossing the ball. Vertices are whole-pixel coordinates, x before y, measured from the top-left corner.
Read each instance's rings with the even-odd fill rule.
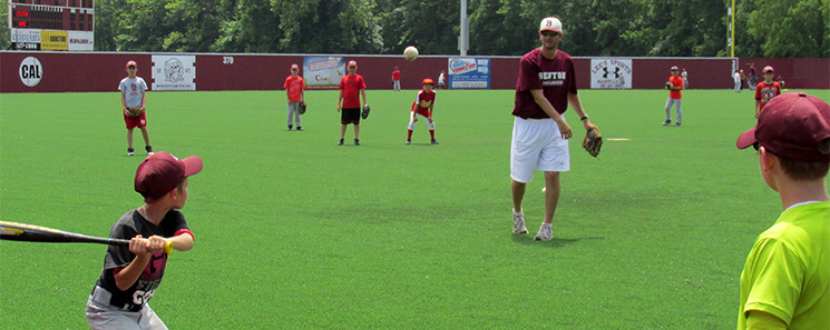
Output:
[[[570,170],[568,140],[550,119],[516,117],[510,142],[510,178],[527,183],[534,171],[566,172]]]

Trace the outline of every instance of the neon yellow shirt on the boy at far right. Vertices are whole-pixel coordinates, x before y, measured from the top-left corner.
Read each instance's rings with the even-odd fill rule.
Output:
[[[758,237],[741,273],[739,330],[751,310],[789,329],[830,329],[830,202],[784,210]]]

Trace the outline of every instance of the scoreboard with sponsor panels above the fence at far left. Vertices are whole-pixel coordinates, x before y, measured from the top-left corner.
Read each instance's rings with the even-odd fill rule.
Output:
[[[94,0],[7,0],[14,49],[92,50]]]

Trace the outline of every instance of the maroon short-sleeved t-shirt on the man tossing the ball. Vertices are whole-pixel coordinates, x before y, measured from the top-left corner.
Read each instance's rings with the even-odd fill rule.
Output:
[[[558,50],[551,60],[534,49],[521,58],[519,79],[516,81],[516,107],[512,116],[525,119],[550,118],[536,103],[530,90],[540,89],[559,114],[568,109],[568,93],[577,93],[574,61],[566,52]]]

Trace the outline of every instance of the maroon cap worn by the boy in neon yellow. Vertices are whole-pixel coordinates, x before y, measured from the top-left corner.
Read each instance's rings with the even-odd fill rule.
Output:
[[[738,149],[759,143],[773,154],[805,162],[830,162],[819,151],[830,138],[830,104],[808,93],[782,93],[761,110],[755,128],[741,134]]]

